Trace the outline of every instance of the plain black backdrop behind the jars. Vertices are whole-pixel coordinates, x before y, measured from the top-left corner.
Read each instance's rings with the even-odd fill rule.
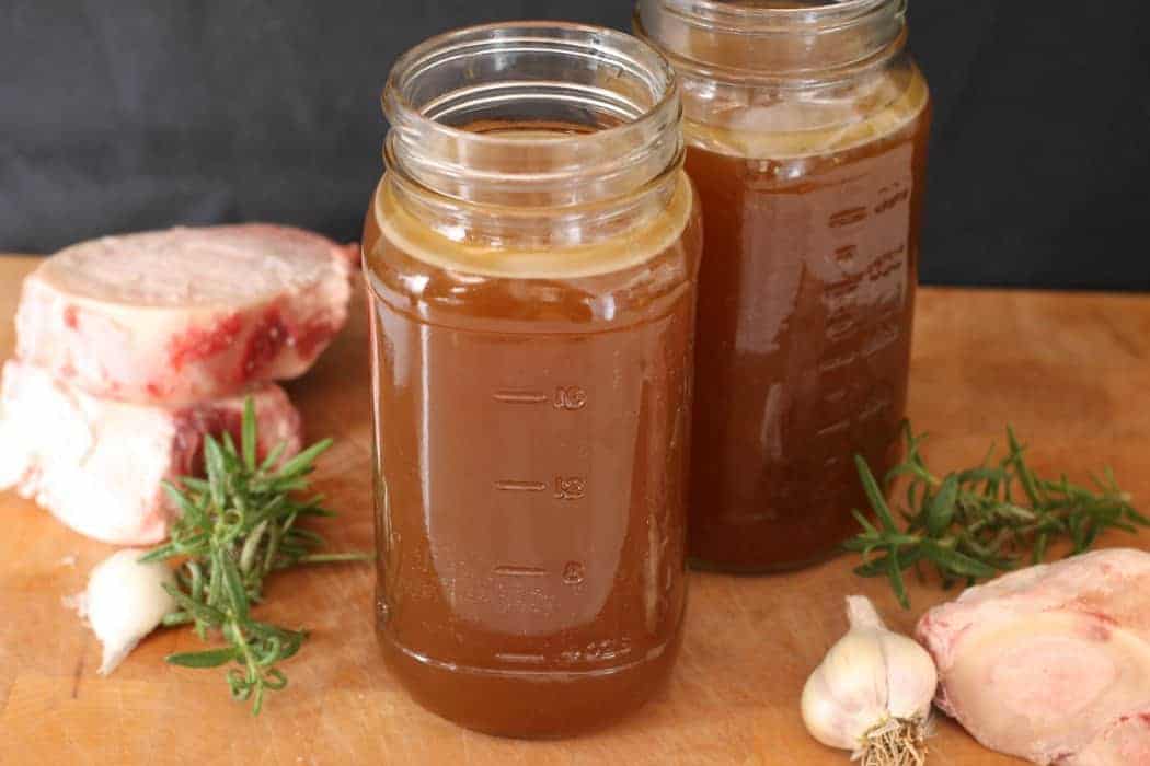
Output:
[[[269,219],[355,239],[397,53],[628,0],[0,0],[0,249]],[[922,277],[1150,289],[1150,3],[911,0]]]

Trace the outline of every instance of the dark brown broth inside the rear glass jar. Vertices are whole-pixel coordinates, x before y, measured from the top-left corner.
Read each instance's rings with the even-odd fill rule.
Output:
[[[689,126],[706,237],[689,535],[700,565],[769,571],[830,554],[856,531],[851,509],[868,508],[853,455],[881,477],[897,454],[929,122],[921,76],[897,87],[876,111],[844,110],[866,117],[812,130],[795,130],[811,121],[789,106]]]

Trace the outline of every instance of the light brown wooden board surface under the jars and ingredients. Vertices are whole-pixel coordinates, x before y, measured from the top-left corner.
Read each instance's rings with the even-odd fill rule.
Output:
[[[30,258],[0,257],[0,358]],[[361,299],[362,301],[362,299]],[[309,438],[332,435],[319,485],[340,518],[335,548],[371,546],[370,416],[362,305],[306,379],[289,386]],[[1150,509],[1150,296],[923,289],[911,417],[934,434],[940,466],[982,457],[1012,423],[1040,469],[1080,478],[1103,464]],[[845,764],[805,733],[798,695],[844,630],[843,596],[864,593],[910,630],[943,599],[914,585],[913,612],[887,585],[851,574],[852,557],[787,575],[692,574],[683,652],[669,684],[605,732],[559,742],[474,734],[424,712],[384,670],[371,632],[373,570],[285,573],[259,614],[306,626],[291,684],[259,718],[228,697],[220,671],[167,666],[200,648],[187,629],[147,639],[110,676],[61,599],[112,548],[0,494],[0,764]],[[1103,544],[1150,547],[1116,534]],[[942,721],[931,763],[1019,763]]]

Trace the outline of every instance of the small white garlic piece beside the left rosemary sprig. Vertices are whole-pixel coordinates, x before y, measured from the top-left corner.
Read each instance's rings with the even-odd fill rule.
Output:
[[[76,599],[80,617],[103,647],[101,675],[112,673],[176,609],[176,599],[163,589],[164,583],[176,585],[175,574],[162,563],[140,564],[145,552],[125,549],[103,559]]]

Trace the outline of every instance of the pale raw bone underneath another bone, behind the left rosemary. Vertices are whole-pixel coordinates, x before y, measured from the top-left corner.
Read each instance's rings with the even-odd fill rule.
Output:
[[[273,384],[253,394],[266,454],[300,449],[301,421]],[[8,362],[0,393],[0,489],[15,487],[90,537],[122,546],[163,540],[174,514],[161,482],[201,473],[204,434],[239,438],[244,399],[187,407],[97,399],[46,370]]]

